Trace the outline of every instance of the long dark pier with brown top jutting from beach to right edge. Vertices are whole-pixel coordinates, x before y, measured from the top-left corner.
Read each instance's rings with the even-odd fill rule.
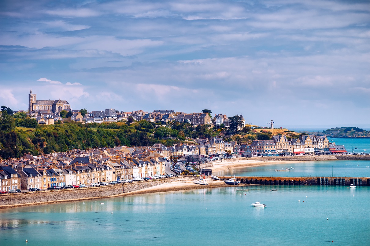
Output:
[[[233,177],[219,177],[228,180]],[[242,184],[258,185],[359,185],[370,186],[370,177],[235,177]]]

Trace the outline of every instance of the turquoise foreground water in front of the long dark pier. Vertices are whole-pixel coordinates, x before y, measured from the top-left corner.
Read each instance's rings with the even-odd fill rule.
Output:
[[[369,192],[228,187],[6,209],[0,245],[369,245]]]

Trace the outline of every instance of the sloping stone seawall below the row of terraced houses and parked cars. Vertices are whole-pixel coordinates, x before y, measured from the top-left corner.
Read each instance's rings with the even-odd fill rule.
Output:
[[[128,184],[107,185],[102,187],[89,187],[78,189],[62,189],[58,191],[37,191],[26,193],[13,193],[0,195],[0,209],[13,206],[29,206],[57,202],[70,202],[88,199],[108,198],[124,195],[125,193],[145,189],[166,182],[175,181],[177,178],[149,180]]]

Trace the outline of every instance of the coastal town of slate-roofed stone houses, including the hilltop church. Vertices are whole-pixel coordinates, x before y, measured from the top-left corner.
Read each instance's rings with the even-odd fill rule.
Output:
[[[218,114],[211,118],[208,110],[187,114],[174,110],[154,110],[151,113],[137,110],[127,113],[105,109],[104,111],[85,112],[83,116],[82,110],[73,110],[66,100],[36,100],[36,94],[32,91],[28,96],[27,115],[30,119],[37,120],[39,127],[71,121],[82,124],[144,121],[157,123],[157,127],[169,128],[171,128],[171,122],[181,122],[191,127],[205,125],[214,129],[230,128],[229,118],[226,115]],[[70,116],[61,117],[63,110]],[[6,109],[3,109],[3,112],[7,112]],[[242,115],[239,116],[239,120],[236,132],[247,125]],[[249,125],[249,127],[250,130],[261,132],[267,129],[259,126]],[[273,121],[269,129],[273,130]],[[284,131],[281,132],[284,133]],[[153,146],[120,145],[85,150],[73,148],[68,151],[53,151],[37,156],[23,153],[21,157],[3,158],[0,161],[0,190],[8,192],[32,188],[51,189],[64,186],[94,186],[120,181],[132,182],[133,180],[188,174],[189,170],[195,175],[200,172],[202,165],[222,158],[347,153],[343,145],[330,143],[326,136],[302,134],[293,138],[282,133],[273,135],[270,140],[251,140],[248,143],[228,142],[222,137],[205,137],[187,138],[187,142],[175,143],[173,146],[156,143]],[[182,163],[191,168],[166,170],[165,166],[170,162]]]

